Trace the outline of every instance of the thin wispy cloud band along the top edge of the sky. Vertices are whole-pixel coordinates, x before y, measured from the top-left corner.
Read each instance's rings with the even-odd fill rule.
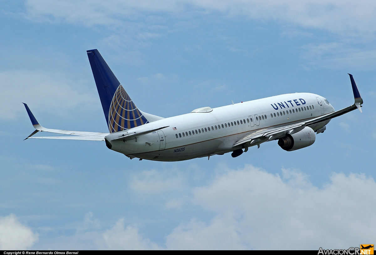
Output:
[[[48,1],[28,0],[27,15],[32,19],[83,23],[85,25],[121,25],[137,12],[181,14],[185,11],[219,12],[243,15],[260,20],[279,20],[293,25],[324,29],[347,35],[371,34],[374,26],[376,3],[368,0],[164,0],[124,1],[106,3],[98,0]]]

